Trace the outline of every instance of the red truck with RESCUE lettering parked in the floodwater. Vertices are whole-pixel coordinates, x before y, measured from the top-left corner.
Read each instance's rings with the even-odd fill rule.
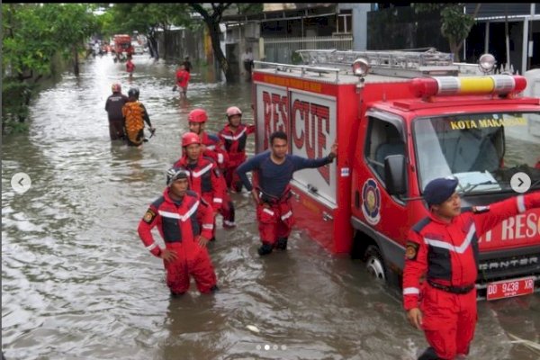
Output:
[[[307,65],[255,63],[256,151],[275,130],[303,157],[338,141],[337,161],[292,181],[296,228],[332,253],[360,254],[371,274],[400,282],[430,180],[456,176],[464,207],[517,195],[518,173],[519,191],[540,191],[540,100],[521,96],[523,76],[487,75],[491,55],[478,67],[486,75],[464,76],[452,54],[433,49],[299,53]],[[481,298],[533,293],[540,209],[491,229],[480,251]]]

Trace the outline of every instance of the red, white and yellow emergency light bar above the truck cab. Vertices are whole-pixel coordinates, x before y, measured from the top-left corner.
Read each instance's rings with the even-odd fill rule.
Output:
[[[519,93],[527,86],[524,76],[433,76],[411,80],[410,89],[418,97],[436,95],[481,95]]]

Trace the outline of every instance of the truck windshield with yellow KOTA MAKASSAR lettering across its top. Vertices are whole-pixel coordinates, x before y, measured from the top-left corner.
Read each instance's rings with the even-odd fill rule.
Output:
[[[509,191],[524,172],[540,188],[540,113],[489,112],[419,118],[413,122],[420,188],[454,175],[458,191]]]

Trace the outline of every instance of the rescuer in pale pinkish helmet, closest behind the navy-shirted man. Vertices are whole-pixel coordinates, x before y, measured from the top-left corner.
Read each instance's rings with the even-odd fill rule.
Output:
[[[236,174],[236,169],[246,161],[247,135],[255,132],[255,125],[242,123],[242,112],[237,106],[227,109],[229,123],[218,133],[229,155],[229,165],[225,169],[225,182],[229,190],[239,193],[242,190],[242,181]]]

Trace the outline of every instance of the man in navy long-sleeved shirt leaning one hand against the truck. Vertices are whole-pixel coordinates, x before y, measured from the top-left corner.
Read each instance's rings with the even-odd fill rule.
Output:
[[[251,157],[236,170],[257,203],[258,229],[263,243],[258,248],[260,256],[270,254],[274,247],[287,248],[287,239],[294,223],[289,201],[289,182],[293,179],[293,173],[331,163],[338,154],[338,144],[332,145],[327,157],[315,159],[289,155],[287,150],[287,134],[275,131],[270,135],[270,150]],[[256,171],[257,187],[253,187],[246,175],[252,170]]]

